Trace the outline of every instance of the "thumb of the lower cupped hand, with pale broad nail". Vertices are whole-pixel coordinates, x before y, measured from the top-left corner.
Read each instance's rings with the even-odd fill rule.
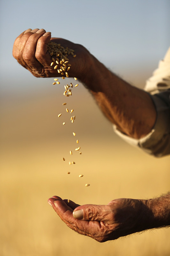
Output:
[[[113,220],[113,212],[109,205],[85,204],[74,209],[73,217],[78,220]]]

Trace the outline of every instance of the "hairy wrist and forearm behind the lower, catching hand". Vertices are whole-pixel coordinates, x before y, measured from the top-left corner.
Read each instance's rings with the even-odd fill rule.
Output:
[[[115,215],[118,237],[170,226],[170,193],[148,200],[122,198],[113,202],[120,203]]]

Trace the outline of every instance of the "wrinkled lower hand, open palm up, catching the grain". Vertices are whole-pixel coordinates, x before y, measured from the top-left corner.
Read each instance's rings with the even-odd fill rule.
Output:
[[[48,199],[65,224],[98,242],[115,240],[146,229],[147,200],[116,199],[107,205],[79,205],[58,196]]]

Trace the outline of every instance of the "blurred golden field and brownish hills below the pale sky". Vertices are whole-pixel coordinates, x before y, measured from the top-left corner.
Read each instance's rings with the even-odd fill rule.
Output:
[[[66,101],[52,81],[44,91],[1,101],[0,255],[168,256],[170,228],[100,244],[69,229],[47,203],[57,195],[78,204],[107,204],[170,189],[169,156],[157,159],[126,144],[82,85]],[[58,118],[63,102],[74,108],[73,124]],[[70,166],[62,157],[77,146],[74,131],[82,155]]]

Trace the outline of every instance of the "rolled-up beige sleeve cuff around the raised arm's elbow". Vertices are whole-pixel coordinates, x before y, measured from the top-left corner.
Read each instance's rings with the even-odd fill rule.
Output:
[[[164,92],[166,97],[170,91]],[[141,139],[133,139],[120,132],[114,125],[115,132],[129,144],[143,149],[146,153],[161,157],[170,154],[170,107],[159,97],[151,95],[157,109],[157,120],[152,131]]]

